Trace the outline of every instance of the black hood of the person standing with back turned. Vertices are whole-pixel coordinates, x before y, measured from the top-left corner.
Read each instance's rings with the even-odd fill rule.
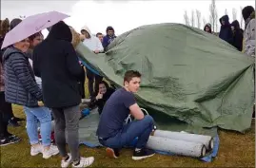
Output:
[[[61,21],[50,28],[47,38],[71,42],[72,34],[69,26],[65,24],[65,22]]]

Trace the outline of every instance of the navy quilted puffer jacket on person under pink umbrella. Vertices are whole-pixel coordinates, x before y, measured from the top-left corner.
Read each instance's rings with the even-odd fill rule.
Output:
[[[3,55],[5,97],[8,103],[37,107],[43,100],[35,82],[29,57],[15,47],[8,47]]]

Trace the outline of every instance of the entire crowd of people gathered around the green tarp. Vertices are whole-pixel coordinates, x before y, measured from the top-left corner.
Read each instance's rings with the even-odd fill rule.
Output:
[[[238,21],[229,24],[228,16],[220,19],[222,24],[219,37],[227,43],[250,55],[255,55],[255,15],[252,7],[243,9],[246,21],[245,32]],[[5,35],[22,22],[21,19],[1,20],[1,46]],[[140,87],[141,74],[128,70],[124,76],[124,86],[115,90],[95,74],[89,66],[79,60],[75,44],[82,42],[95,54],[108,50],[108,45],[116,38],[114,28],[108,27],[107,35],[98,32],[93,36],[87,26],[80,33],[61,21],[49,29],[44,39],[41,32],[16,42],[1,50],[0,59],[0,145],[16,143],[21,139],[8,131],[8,125],[19,125],[14,117],[11,103],[24,107],[26,128],[30,140],[30,155],[43,154],[44,159],[60,154],[61,167],[87,167],[93,157],[84,158],[79,153],[79,104],[85,98],[85,76],[89,79],[90,107],[97,106],[100,121],[96,135],[99,142],[108,147],[107,154],[119,157],[119,151],[132,140],[138,138],[132,159],[146,159],[154,151],[146,148],[154,121],[145,116],[136,103],[134,93]],[[212,33],[210,24],[204,28]],[[78,40],[77,40],[78,38]],[[243,39],[245,45],[243,45]],[[94,85],[94,86],[93,86]],[[131,114],[135,121],[124,124]],[[51,143],[51,121],[54,120],[55,144]],[[38,137],[38,122],[40,136]],[[69,145],[68,153],[66,144]]]

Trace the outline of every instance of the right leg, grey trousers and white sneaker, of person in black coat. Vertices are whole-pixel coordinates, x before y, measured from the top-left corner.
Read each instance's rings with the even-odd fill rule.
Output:
[[[72,106],[64,109],[64,115],[66,120],[66,129],[68,133],[68,144],[71,152],[71,160],[73,161],[73,167],[87,167],[94,161],[93,157],[82,158],[79,154],[79,105]],[[68,165],[68,164],[66,164]]]

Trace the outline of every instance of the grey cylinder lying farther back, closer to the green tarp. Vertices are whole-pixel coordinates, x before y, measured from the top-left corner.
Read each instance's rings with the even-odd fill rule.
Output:
[[[180,133],[164,130],[155,130],[152,135],[155,137],[162,137],[173,140],[187,140],[191,142],[200,142],[207,147],[207,150],[211,150],[214,146],[213,138],[205,135]]]

